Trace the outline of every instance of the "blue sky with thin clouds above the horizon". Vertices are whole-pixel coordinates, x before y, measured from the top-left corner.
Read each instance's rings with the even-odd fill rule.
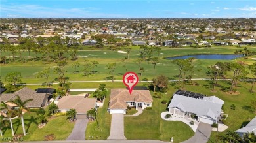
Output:
[[[256,18],[256,1],[0,0],[0,18]]]

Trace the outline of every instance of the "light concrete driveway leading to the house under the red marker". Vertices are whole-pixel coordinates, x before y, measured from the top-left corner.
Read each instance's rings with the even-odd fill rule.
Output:
[[[126,140],[123,126],[123,114],[112,114],[108,140]]]

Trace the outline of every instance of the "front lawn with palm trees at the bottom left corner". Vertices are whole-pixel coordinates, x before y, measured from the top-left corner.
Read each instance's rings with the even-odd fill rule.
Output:
[[[14,127],[14,133],[16,135],[22,134],[22,125],[20,118],[12,120]],[[37,126],[38,120],[35,112],[27,112],[24,114],[24,124],[26,136],[23,136],[24,141],[39,141],[44,140],[45,135],[54,134],[55,140],[66,140],[68,135],[72,132],[75,123],[69,123],[66,116],[54,117],[49,119],[49,122],[45,127],[39,129]],[[3,128],[3,137],[11,137],[11,126]]]

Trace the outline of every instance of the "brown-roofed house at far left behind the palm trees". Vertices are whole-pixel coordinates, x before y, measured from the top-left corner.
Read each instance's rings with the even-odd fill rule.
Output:
[[[28,108],[41,108],[43,106],[47,106],[47,103],[50,101],[50,99],[53,97],[53,93],[55,89],[51,89],[52,92],[48,93],[47,90],[45,92],[38,93],[35,90],[32,90],[28,87],[24,87],[14,93],[3,93],[0,94],[0,102],[7,103],[9,100],[14,100],[17,95],[20,96],[20,99],[22,101],[25,101],[27,99],[33,99],[33,101],[30,101],[26,104]],[[15,108],[15,104],[7,103],[7,105],[11,106],[12,108]]]

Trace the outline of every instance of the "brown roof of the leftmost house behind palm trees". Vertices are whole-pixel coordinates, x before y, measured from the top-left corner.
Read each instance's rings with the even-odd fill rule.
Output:
[[[16,98],[16,95],[20,96],[20,99],[22,101],[25,101],[27,99],[33,99],[33,101],[30,101],[27,103],[28,107],[35,107],[40,108],[43,106],[43,103],[45,103],[45,100],[49,97],[49,94],[47,93],[36,93],[36,91],[24,87],[14,93],[4,93],[0,95],[0,102],[7,102],[9,100],[14,100]]]

